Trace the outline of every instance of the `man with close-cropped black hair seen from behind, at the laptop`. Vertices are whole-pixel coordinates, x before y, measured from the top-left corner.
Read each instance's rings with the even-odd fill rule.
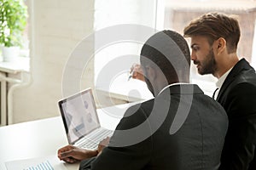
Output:
[[[218,169],[227,116],[218,102],[189,84],[190,54],[184,38],[160,31],[145,42],[140,59],[154,99],[125,111],[108,147],[81,161],[80,169]],[[78,161],[90,157],[86,152],[67,146],[59,157]]]

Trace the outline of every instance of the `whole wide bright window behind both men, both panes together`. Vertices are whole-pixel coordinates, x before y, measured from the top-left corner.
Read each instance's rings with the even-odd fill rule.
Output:
[[[245,57],[252,65],[255,65],[256,52],[253,51],[255,49],[253,44],[254,46],[256,44],[255,40],[253,42],[255,7],[256,2],[251,0],[109,0],[108,2],[96,0],[95,30],[97,32],[109,28],[109,26],[137,24],[151,27],[155,31],[172,29],[183,34],[184,26],[187,26],[190,20],[201,14],[211,11],[237,14],[240,17],[241,26],[238,56]],[[124,30],[117,32],[126,33]],[[103,38],[96,34],[95,43],[101,42]],[[131,65],[139,62],[138,55],[143,42],[121,40],[119,42],[108,42],[105,45],[96,49],[96,88],[104,89],[107,92],[111,91],[125,95],[132,92],[144,96],[142,93],[147,89],[144,83],[137,82],[137,80],[127,81]],[[109,77],[110,81],[106,81],[110,74],[107,68],[117,67],[114,60],[122,57],[124,62],[119,66],[124,69],[119,71],[117,75]],[[205,94],[212,96],[216,81],[217,79],[212,75],[199,75],[195,65],[191,64],[191,82],[198,84]],[[138,84],[141,84],[141,86]],[[125,92],[121,92],[124,89]],[[136,91],[132,91],[132,89],[136,89]]]

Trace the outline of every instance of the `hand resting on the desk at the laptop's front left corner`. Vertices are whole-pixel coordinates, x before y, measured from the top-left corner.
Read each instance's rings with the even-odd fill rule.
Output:
[[[73,145],[67,145],[58,150],[58,157],[67,163],[74,163],[84,159],[97,156],[97,150],[84,150]]]

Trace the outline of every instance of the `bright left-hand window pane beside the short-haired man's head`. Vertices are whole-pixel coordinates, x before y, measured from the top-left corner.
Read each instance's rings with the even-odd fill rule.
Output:
[[[152,96],[144,82],[128,81],[128,73],[131,65],[139,63],[140,49],[146,40],[144,38],[143,41],[137,41],[141,35],[137,34],[137,30],[134,30],[133,34],[132,29],[145,26],[146,30],[152,29],[150,34],[153,35],[156,27],[156,4],[156,0],[96,0],[95,84],[97,89],[138,98]],[[109,31],[105,36],[112,37],[102,36],[101,31]],[[105,42],[97,48],[98,44],[111,38],[113,41]]]

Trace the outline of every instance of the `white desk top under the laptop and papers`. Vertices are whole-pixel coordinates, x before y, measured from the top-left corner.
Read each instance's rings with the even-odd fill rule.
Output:
[[[126,109],[133,104],[115,105],[98,110],[102,127],[114,129]],[[61,116],[0,127],[0,170],[4,162],[56,155],[67,145]],[[67,169],[78,169],[79,164],[67,164]]]

